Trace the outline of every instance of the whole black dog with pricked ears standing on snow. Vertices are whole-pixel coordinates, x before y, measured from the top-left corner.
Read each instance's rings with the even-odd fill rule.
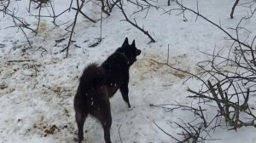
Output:
[[[129,68],[139,54],[141,50],[136,48],[135,41],[129,45],[126,37],[122,47],[110,55],[102,66],[90,64],[85,68],[74,97],[79,143],[84,140],[84,121],[88,114],[99,119],[104,129],[105,142],[111,143],[109,132],[112,117],[109,98],[120,89],[123,99],[131,107],[128,97]]]

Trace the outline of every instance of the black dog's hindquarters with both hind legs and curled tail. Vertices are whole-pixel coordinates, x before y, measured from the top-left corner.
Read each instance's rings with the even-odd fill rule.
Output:
[[[84,140],[84,121],[90,114],[99,119],[104,129],[104,137],[107,143],[110,140],[110,126],[112,123],[106,76],[102,67],[90,64],[84,69],[80,77],[79,88],[74,97],[76,121],[79,127],[79,143]]]

